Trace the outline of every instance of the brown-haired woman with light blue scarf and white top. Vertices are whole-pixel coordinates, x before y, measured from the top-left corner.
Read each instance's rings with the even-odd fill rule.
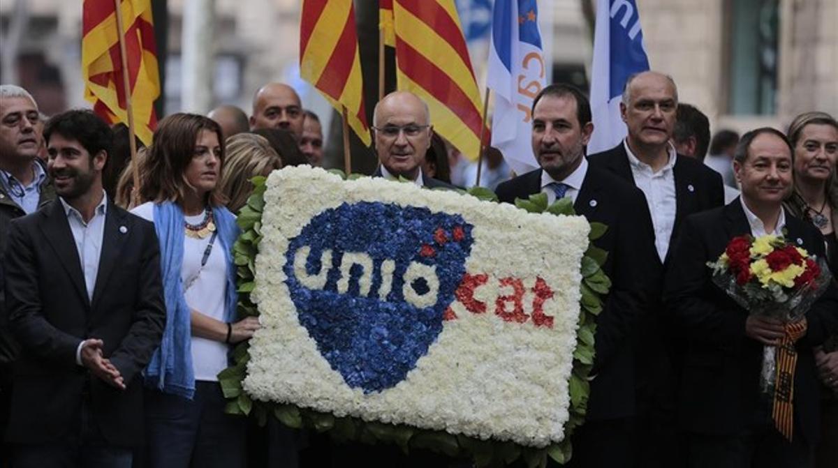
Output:
[[[230,346],[253,336],[235,320],[232,248],[239,229],[220,193],[224,141],[204,116],[173,114],[154,132],[132,210],[153,221],[160,242],[166,328],[145,371],[147,466],[246,462],[246,419],[225,414],[218,373]]]

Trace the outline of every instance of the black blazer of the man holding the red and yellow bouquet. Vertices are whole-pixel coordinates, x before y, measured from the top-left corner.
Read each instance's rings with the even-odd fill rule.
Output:
[[[786,239],[811,254],[824,255],[820,233],[786,213]],[[711,281],[706,265],[733,237],[750,234],[739,198],[725,207],[684,221],[667,273],[664,300],[686,333],[680,385],[680,425],[692,432],[735,435],[753,424],[760,404],[758,388],[763,345],[745,335],[747,311]],[[819,392],[812,347],[838,329],[838,292],[830,286],[807,313],[809,330],[797,342],[794,373],[794,436],[802,429],[814,444],[820,435]],[[765,401],[763,404],[767,404]]]

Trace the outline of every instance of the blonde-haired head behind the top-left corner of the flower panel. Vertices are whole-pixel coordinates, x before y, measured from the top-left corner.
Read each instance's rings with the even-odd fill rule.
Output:
[[[221,193],[227,198],[227,209],[238,213],[253,192],[251,178],[267,176],[282,168],[282,158],[264,136],[239,133],[227,138],[227,159],[221,174]]]

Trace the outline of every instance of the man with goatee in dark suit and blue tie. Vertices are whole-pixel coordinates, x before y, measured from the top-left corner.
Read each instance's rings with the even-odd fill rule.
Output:
[[[660,269],[654,261],[654,234],[641,193],[606,171],[589,165],[584,148],[593,131],[591,107],[571,85],[550,85],[535,97],[532,146],[541,166],[501,183],[501,202],[535,193],[570,197],[577,213],[608,225],[594,241],[608,251],[603,270],[612,280],[597,316],[591,395],[585,424],[572,436],[571,466],[619,467],[634,463],[634,327],[649,310],[649,295]]]

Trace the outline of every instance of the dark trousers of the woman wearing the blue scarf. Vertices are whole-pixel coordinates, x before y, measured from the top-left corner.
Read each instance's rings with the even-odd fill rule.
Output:
[[[243,468],[247,419],[225,414],[225,405],[218,382],[196,382],[191,401],[147,390],[145,464]]]

